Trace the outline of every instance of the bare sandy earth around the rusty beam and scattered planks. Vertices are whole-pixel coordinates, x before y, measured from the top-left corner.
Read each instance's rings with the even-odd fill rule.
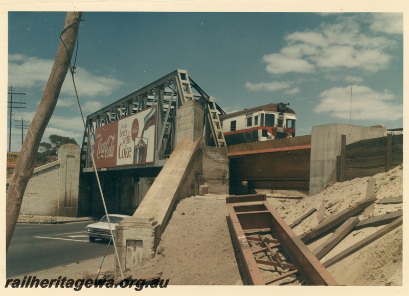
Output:
[[[397,198],[403,196],[403,165],[373,177],[357,178],[343,183],[327,184],[321,192],[307,196],[298,191],[263,191],[288,224],[311,208],[324,206],[324,218],[362,200],[367,182],[376,179],[375,196]],[[243,285],[239,264],[226,223],[227,195],[207,194],[178,201],[162,234],[155,258],[129,273],[138,278],[160,276],[172,285]],[[377,216],[402,209],[399,204],[374,204],[369,216]],[[360,213],[360,219],[364,213]],[[318,224],[317,212],[294,228],[300,235]],[[349,246],[369,236],[379,227],[351,232],[335,246],[321,262],[332,258]],[[389,286],[402,285],[402,226],[382,236],[358,252],[328,268],[340,285]],[[328,234],[330,235],[330,234]],[[310,250],[326,237],[308,245]],[[261,269],[266,278],[274,277],[274,270]],[[299,285],[301,277],[287,278],[275,285]]]

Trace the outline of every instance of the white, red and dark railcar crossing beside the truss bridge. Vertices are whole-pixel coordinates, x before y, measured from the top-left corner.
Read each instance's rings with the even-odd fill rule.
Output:
[[[271,103],[220,116],[227,145],[296,136],[296,112],[289,103]]]

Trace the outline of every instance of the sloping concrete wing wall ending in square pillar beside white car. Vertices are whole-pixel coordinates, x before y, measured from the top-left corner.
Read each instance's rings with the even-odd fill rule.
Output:
[[[192,195],[201,174],[201,137],[181,138],[132,217],[116,227],[122,268],[152,259],[175,201]]]

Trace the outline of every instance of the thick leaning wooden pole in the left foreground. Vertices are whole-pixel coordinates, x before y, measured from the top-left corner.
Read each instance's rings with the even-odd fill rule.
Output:
[[[10,178],[6,197],[6,252],[17,223],[27,183],[33,174],[34,160],[42,135],[53,114],[62,83],[70,66],[81,16],[82,12],[67,12],[53,69]]]

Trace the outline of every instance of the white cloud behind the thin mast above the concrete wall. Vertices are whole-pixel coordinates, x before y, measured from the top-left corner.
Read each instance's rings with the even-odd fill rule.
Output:
[[[320,94],[321,102],[316,113],[329,113],[338,119],[349,119],[351,109],[351,86],[334,87]],[[403,117],[402,104],[392,101],[396,97],[388,90],[377,92],[367,86],[352,86],[352,119],[354,120],[397,120]]]

